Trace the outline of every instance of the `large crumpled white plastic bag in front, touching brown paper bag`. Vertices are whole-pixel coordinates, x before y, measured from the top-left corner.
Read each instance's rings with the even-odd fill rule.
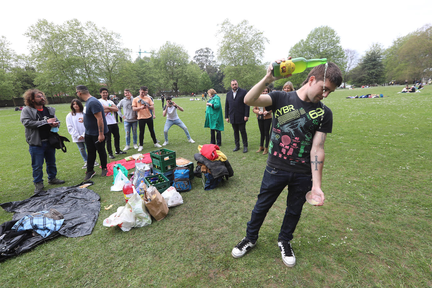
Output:
[[[117,208],[117,212],[104,220],[106,227],[118,226],[122,231],[129,231],[133,227],[150,225],[152,218],[146,210],[143,199],[133,190],[133,195],[125,206]]]

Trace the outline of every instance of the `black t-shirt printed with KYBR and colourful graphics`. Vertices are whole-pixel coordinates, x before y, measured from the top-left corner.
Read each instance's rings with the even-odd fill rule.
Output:
[[[268,94],[273,111],[267,165],[285,171],[311,173],[312,139],[316,131],[331,133],[333,114],[323,103],[305,102],[296,91]]]

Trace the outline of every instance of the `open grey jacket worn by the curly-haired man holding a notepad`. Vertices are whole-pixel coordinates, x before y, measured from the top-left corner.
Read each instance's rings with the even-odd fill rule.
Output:
[[[58,121],[58,118],[55,116],[55,108],[54,107],[47,107],[47,108],[48,111],[50,111],[50,114],[54,115],[54,117]],[[42,146],[41,136],[39,135],[38,126],[47,123],[48,121],[36,120],[37,113],[38,110],[36,108],[25,106],[24,108],[22,108],[20,120],[22,125],[24,125],[25,127],[25,140],[27,141],[27,143],[33,146]],[[60,124],[58,125],[58,127],[60,127]]]

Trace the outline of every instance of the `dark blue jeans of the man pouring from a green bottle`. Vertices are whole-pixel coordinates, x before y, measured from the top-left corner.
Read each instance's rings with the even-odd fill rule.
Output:
[[[278,241],[292,240],[292,233],[294,233],[295,227],[299,223],[303,204],[306,202],[306,193],[312,188],[312,174],[290,172],[267,166],[261,182],[257,203],[252,210],[251,220],[246,228],[246,236],[252,243],[257,241],[258,232],[267,212],[286,185],[288,185],[286,210]]]

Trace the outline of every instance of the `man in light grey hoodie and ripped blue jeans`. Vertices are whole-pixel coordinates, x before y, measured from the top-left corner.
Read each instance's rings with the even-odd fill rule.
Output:
[[[132,128],[132,138],[133,138],[133,148],[138,149],[137,146],[137,127],[138,118],[137,112],[132,110],[133,97],[130,94],[129,89],[124,89],[124,98],[117,104],[118,116],[123,118],[124,131],[126,132],[126,146],[123,151],[130,149],[130,128]],[[121,113],[121,108],[123,107],[123,114]]]

